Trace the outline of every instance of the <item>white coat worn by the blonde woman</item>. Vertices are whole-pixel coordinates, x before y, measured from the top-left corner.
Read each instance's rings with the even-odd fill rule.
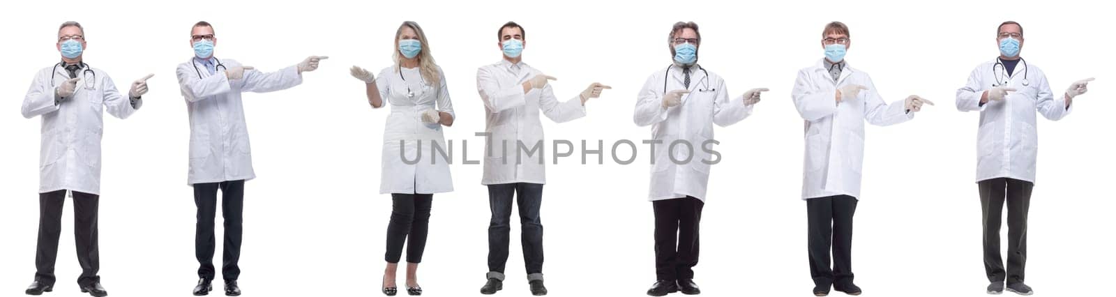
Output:
[[[379,174],[379,193],[400,194],[433,194],[453,191],[450,178],[450,165],[441,155],[433,151],[436,143],[442,152],[450,153],[442,136],[442,124],[422,122],[422,113],[426,109],[453,114],[453,103],[450,102],[450,90],[445,86],[445,74],[437,68],[441,83],[435,88],[420,75],[419,68],[403,68],[401,79],[396,67],[387,67],[376,77],[379,97],[392,106],[392,114],[384,125],[383,166]],[[414,98],[407,97],[407,88],[414,93]],[[401,147],[400,142],[405,142]],[[422,151],[420,144],[422,143]],[[401,152],[406,148],[405,152]],[[407,164],[403,161],[417,163]]]

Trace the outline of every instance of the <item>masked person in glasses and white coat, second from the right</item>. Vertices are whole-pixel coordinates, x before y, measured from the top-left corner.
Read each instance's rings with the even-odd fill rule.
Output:
[[[859,295],[853,284],[853,214],[860,198],[864,163],[864,122],[894,125],[914,118],[923,104],[908,96],[888,105],[868,74],[845,60],[852,45],[848,27],[834,21],[821,31],[826,58],[798,71],[791,96],[805,119],[806,154],[802,199],[808,217],[810,277],[814,295],[830,287]],[[833,268],[829,267],[833,248]]]

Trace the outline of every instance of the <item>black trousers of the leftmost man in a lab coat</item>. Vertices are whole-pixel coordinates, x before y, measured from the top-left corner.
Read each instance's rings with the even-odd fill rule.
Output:
[[[89,193],[74,194],[74,243],[81,276],[77,284],[99,282],[100,253],[97,249],[97,202],[100,197]],[[66,190],[39,193],[39,239],[35,250],[35,280],[55,285],[55,260],[58,258],[58,237],[62,229],[62,205]]]

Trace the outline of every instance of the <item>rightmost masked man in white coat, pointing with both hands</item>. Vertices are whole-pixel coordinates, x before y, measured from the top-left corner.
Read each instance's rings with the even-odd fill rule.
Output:
[[[1088,82],[1075,82],[1064,94],[1050,90],[1046,75],[1020,57],[1023,29],[1007,21],[997,29],[1000,57],[977,66],[958,89],[958,109],[980,112],[977,132],[977,184],[983,220],[988,293],[1006,288],[1032,293],[1023,284],[1027,262],[1027,212],[1038,155],[1038,116],[1058,121],[1072,112],[1074,97]],[[1008,205],[1008,267],[1000,257],[1000,223]],[[1004,281],[1007,280],[1007,284]]]

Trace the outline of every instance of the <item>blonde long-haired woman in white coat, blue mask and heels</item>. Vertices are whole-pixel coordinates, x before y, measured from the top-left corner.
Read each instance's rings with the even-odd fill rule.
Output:
[[[448,151],[442,126],[453,125],[453,103],[445,74],[434,63],[426,33],[413,21],[395,31],[395,64],[378,76],[353,66],[353,77],[365,83],[373,108],[392,105],[384,125],[384,147],[379,193],[392,194],[392,217],[387,223],[387,248],[382,290],[397,293],[395,272],[407,246],[408,294],[422,294],[416,274],[426,247],[431,203],[434,193],[453,191],[450,160],[433,146]],[[420,144],[421,143],[421,144]]]

